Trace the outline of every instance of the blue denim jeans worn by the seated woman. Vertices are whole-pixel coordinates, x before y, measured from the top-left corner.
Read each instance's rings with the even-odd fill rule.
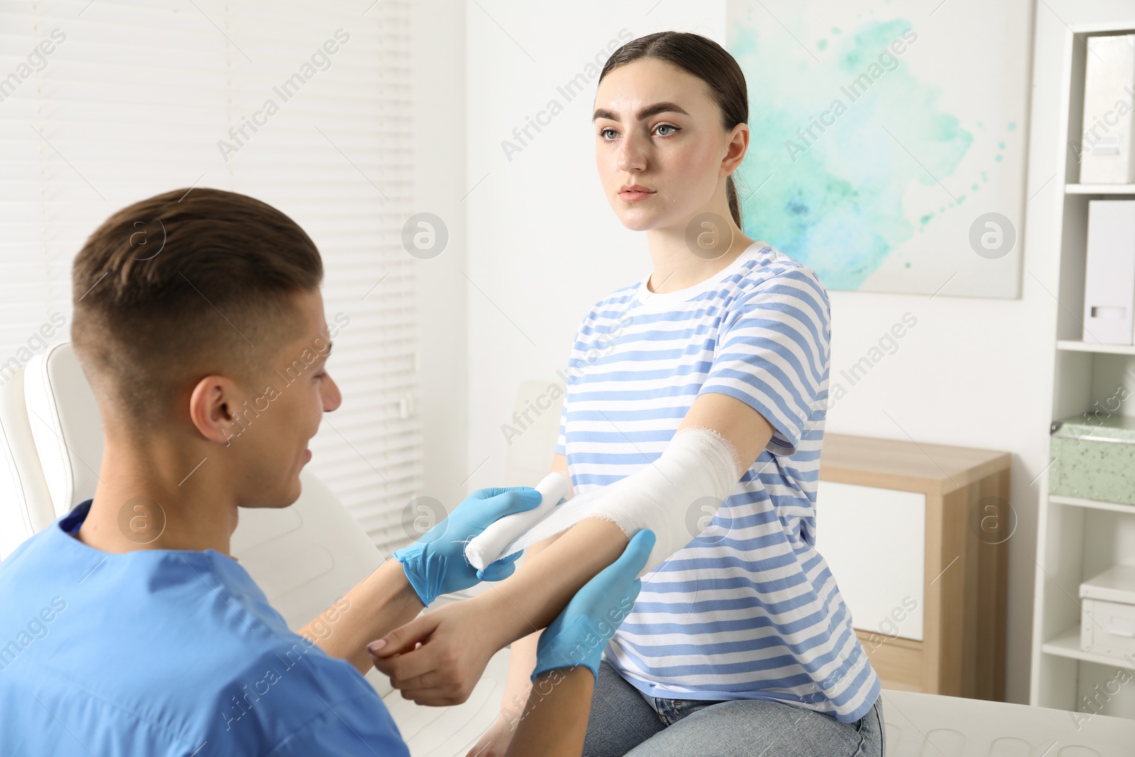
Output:
[[[883,757],[883,698],[855,723],[765,699],[648,697],[607,661],[583,757]]]

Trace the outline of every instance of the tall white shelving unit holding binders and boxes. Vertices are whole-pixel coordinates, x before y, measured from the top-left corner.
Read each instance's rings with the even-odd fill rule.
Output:
[[[1081,25],[1065,35],[1065,118],[1059,141],[1063,154],[1058,162],[1063,175],[1056,177],[1065,191],[1060,207],[1054,209],[1061,232],[1053,420],[1104,410],[1102,403],[1120,385],[1132,396],[1116,412],[1135,415],[1135,346],[1082,340],[1088,200],[1125,195],[1135,199],[1135,185],[1077,184],[1076,152],[1068,148],[1078,143],[1082,134],[1085,40],[1125,32],[1135,28]],[[1135,505],[1049,496],[1048,469],[1037,483],[1041,493],[1029,701],[1083,713],[1073,717],[1103,714],[1135,718],[1135,665],[1123,657],[1079,648],[1079,584],[1110,565],[1135,564]]]

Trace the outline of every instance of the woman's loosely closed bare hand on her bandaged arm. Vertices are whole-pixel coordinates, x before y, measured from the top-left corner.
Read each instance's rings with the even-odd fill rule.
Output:
[[[419,705],[465,701],[493,655],[511,641],[494,620],[507,605],[497,608],[494,594],[451,602],[372,641],[367,650],[375,667]]]

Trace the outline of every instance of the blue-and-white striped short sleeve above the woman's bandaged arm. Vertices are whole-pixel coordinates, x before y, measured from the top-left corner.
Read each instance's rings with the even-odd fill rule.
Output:
[[[768,277],[730,306],[698,394],[746,403],[773,427],[773,452],[796,454],[827,404],[830,319],[827,292],[810,270]]]

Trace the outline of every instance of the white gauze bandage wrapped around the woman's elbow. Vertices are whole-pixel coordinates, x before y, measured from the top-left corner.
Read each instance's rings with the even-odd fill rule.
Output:
[[[501,556],[555,536],[585,518],[614,522],[628,538],[641,529],[654,531],[650,558],[639,573],[654,570],[698,536],[688,523],[714,512],[737,487],[747,466],[730,441],[712,429],[689,427],[671,438],[649,465],[611,486],[569,499],[527,533],[511,541]]]

